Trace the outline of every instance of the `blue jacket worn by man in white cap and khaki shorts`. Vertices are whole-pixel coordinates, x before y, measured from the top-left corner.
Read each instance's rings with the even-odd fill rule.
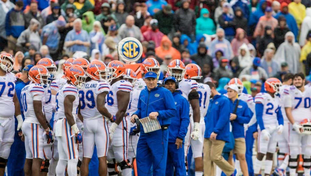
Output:
[[[231,113],[233,113],[237,101],[238,99],[234,100],[234,102],[230,100]],[[245,101],[239,100],[239,105],[235,114],[237,115],[236,119],[230,121],[234,139],[244,138],[244,123],[248,123],[252,118],[248,105]]]

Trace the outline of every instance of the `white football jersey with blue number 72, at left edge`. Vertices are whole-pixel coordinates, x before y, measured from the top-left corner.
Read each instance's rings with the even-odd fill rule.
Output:
[[[16,78],[12,73],[0,76],[0,119],[2,120],[14,116],[15,81]]]

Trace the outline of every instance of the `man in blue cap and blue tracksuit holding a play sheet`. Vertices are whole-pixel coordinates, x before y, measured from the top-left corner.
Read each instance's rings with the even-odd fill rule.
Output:
[[[132,115],[135,118],[148,117],[157,119],[160,130],[145,133],[141,125],[140,137],[137,143],[137,174],[138,176],[165,175],[167,148],[169,139],[169,125],[171,118],[176,116],[176,106],[172,93],[164,87],[157,86],[157,74],[148,72],[144,81],[146,88],[141,91],[137,104],[137,111]],[[153,170],[151,170],[151,166]]]

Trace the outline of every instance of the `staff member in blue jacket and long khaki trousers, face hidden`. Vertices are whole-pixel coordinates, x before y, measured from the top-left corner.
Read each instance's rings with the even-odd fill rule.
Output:
[[[220,95],[212,82],[206,83],[211,88],[211,102],[204,119],[204,175],[215,175],[214,163],[226,174],[231,175],[234,167],[221,156],[225,142],[230,141],[230,100]]]

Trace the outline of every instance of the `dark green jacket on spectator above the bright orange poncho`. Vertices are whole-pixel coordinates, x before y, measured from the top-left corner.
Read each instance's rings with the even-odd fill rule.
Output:
[[[163,10],[158,11],[154,18],[158,20],[158,26],[165,35],[171,32],[174,24],[174,14],[165,14]]]

